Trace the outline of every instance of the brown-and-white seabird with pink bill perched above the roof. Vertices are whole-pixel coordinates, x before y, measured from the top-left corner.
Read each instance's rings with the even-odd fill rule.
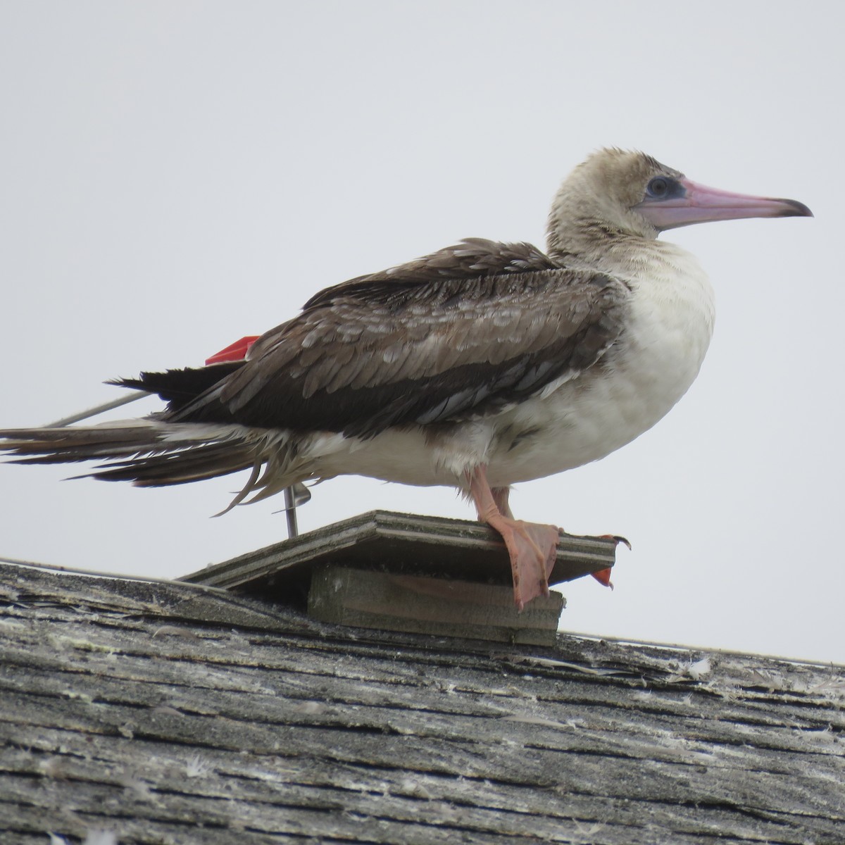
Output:
[[[686,393],[710,344],[706,273],[658,236],[789,216],[812,213],[597,150],[554,196],[545,251],[470,237],[341,282],[243,359],[112,382],[158,394],[159,412],[5,429],[0,449],[101,461],[90,477],[140,487],[248,470],[226,510],[341,475],[457,488],[504,541],[521,610],[548,596],[559,528],[517,520],[512,485],[630,443]]]

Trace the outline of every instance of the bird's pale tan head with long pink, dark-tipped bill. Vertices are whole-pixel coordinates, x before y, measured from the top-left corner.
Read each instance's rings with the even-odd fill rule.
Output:
[[[565,251],[575,229],[653,239],[666,229],[744,217],[811,217],[794,199],[731,194],[692,182],[651,155],[598,150],[560,187],[549,215],[550,251]]]

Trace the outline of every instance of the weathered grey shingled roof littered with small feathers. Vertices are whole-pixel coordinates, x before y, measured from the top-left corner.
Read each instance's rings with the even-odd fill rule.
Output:
[[[841,667],[24,565],[0,601],[4,845],[845,841]]]

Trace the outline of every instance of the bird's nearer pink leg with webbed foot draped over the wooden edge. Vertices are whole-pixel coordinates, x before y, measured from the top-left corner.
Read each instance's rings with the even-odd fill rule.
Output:
[[[478,519],[502,535],[510,554],[514,601],[520,610],[537,596],[548,596],[548,575],[557,557],[559,530],[515,520],[508,504],[508,488],[491,489],[487,467],[466,473]]]

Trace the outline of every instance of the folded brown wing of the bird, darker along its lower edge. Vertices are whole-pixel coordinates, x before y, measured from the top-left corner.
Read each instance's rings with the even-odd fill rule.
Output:
[[[626,294],[527,245],[464,242],[319,293],[169,418],[371,436],[492,412],[596,363]]]

